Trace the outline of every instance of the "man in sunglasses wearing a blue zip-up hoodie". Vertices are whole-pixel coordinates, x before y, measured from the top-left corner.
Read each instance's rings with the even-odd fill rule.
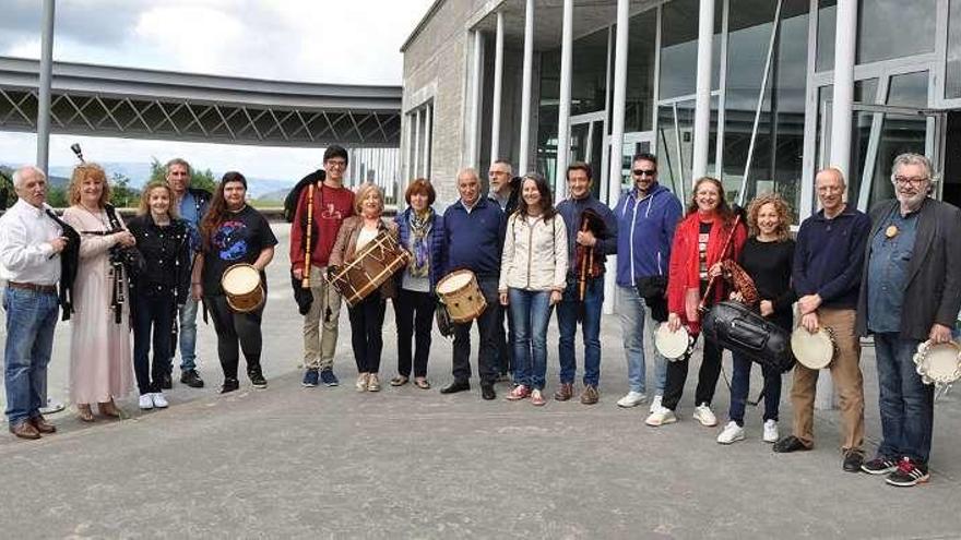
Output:
[[[644,364],[644,327],[652,334],[654,325],[645,320],[663,308],[671,262],[674,229],[681,216],[680,201],[657,183],[657,158],[638,154],[631,160],[633,189],[627,191],[614,209],[617,216],[617,311],[624,335],[629,391],[617,401],[619,407],[637,407],[648,399]],[[663,286],[663,291],[660,287]],[[646,295],[646,300],[644,296]],[[660,295],[660,298],[657,296]],[[664,311],[663,309],[661,311]],[[656,315],[656,313],[653,313]],[[654,351],[656,388],[651,412],[661,407],[667,379],[667,364]]]

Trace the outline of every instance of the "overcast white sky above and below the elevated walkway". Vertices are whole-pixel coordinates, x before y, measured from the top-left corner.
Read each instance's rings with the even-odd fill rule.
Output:
[[[400,85],[400,47],[431,0],[59,0],[59,61],[322,83]],[[0,56],[39,58],[38,0],[0,0]],[[69,145],[102,161],[178,155],[203,168],[299,178],[315,149],[54,135],[50,164]],[[36,156],[36,136],[0,132],[0,161]]]

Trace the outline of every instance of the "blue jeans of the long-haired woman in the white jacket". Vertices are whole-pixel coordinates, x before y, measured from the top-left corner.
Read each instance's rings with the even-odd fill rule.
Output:
[[[514,382],[544,389],[550,291],[508,289],[514,336]]]

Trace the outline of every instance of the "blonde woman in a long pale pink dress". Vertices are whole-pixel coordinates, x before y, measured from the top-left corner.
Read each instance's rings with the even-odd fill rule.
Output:
[[[84,422],[100,415],[120,418],[114,403],[130,392],[130,308],[124,249],[137,239],[109,204],[110,185],[99,165],[73,169],[70,207],[63,220],[80,232],[80,265],[73,284],[70,323],[70,399]]]

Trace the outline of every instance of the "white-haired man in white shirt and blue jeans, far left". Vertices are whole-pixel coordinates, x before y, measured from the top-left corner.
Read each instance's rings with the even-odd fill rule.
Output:
[[[67,238],[46,211],[47,177],[36,167],[13,173],[16,203],[0,217],[0,278],[7,280],[4,382],[10,432],[39,439],[57,429],[46,405],[47,363],[54,348],[59,304],[60,252]]]

